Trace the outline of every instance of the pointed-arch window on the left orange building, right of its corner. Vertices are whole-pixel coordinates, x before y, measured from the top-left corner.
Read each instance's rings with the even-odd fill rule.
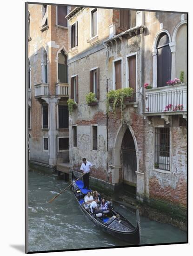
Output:
[[[58,54],[58,80],[67,83],[67,55],[63,50]]]

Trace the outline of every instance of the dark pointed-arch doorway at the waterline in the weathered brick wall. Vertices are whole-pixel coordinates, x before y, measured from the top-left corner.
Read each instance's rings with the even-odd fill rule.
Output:
[[[121,153],[123,183],[136,188],[137,157],[133,136],[129,128],[126,128],[125,134],[123,136],[121,144]],[[135,191],[136,189],[132,190]]]

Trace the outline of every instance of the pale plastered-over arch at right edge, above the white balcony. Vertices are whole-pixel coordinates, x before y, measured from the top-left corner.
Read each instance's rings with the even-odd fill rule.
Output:
[[[184,72],[184,81],[186,82],[186,65],[187,65],[187,26],[186,24],[179,27],[176,33],[176,77],[180,78],[181,71]]]

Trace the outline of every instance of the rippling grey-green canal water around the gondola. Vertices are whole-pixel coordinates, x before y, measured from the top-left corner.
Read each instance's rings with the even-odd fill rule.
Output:
[[[53,175],[29,171],[28,249],[29,251],[83,249],[126,246],[100,231],[80,210],[73,192],[66,190],[53,202],[68,183]],[[123,205],[113,204],[123,216],[136,225],[135,214]],[[186,233],[169,224],[140,217],[141,244],[186,242]],[[96,243],[97,241],[97,243]]]

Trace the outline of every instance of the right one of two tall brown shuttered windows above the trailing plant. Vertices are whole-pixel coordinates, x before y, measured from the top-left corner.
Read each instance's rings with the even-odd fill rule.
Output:
[[[129,87],[133,88],[133,93],[136,93],[136,55],[128,57],[127,61],[129,67]]]

